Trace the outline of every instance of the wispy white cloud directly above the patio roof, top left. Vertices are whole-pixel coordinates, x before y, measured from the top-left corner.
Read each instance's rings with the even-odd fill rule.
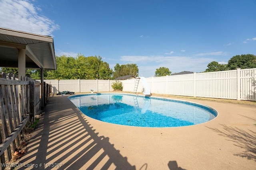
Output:
[[[1,0],[0,27],[52,36],[59,25],[38,14],[40,11],[28,0]]]

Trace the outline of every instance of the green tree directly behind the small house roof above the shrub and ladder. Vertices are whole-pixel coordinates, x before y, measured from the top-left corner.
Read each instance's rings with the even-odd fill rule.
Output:
[[[114,75],[113,78],[117,78],[120,76],[134,75],[139,73],[139,68],[137,64],[116,64],[114,67]]]

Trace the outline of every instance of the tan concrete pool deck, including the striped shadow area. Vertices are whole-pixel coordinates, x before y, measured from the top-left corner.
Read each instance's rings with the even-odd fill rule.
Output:
[[[51,97],[19,169],[255,170],[256,106],[175,99],[219,115],[187,127],[130,127],[87,117],[68,96]]]

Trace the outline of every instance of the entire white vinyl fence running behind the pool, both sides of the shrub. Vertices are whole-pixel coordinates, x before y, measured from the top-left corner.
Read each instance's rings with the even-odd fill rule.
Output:
[[[256,68],[146,78],[152,94],[256,101]],[[44,80],[52,92],[112,92],[115,80]],[[121,80],[133,92],[135,79]],[[142,82],[137,92],[142,92]]]

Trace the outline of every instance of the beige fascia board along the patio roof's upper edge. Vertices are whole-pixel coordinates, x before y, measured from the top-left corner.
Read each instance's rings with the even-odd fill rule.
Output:
[[[16,37],[22,37],[22,38],[27,38],[27,39],[34,39],[34,40],[38,40],[38,41],[53,43],[53,38],[45,36],[45,35],[26,33],[26,32],[22,32],[22,31],[16,31],[16,30],[12,30],[12,29],[1,28],[1,27],[0,27],[0,33],[5,34],[5,35],[11,35],[11,36],[16,36]]]

